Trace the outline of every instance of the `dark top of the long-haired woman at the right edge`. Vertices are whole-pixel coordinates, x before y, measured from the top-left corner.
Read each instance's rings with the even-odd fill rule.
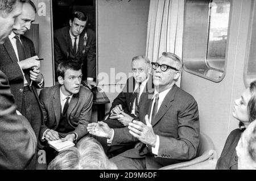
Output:
[[[234,129],[228,136],[225,146],[218,158],[216,169],[217,170],[237,170],[238,157],[236,147],[240,140],[241,134],[244,129]]]

